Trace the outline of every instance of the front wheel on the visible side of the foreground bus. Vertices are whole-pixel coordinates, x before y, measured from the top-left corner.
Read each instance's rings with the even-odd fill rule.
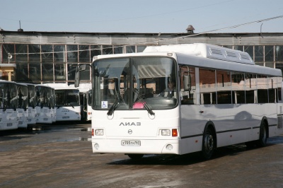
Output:
[[[212,127],[206,127],[204,129],[204,135],[202,139],[202,157],[204,159],[210,159],[216,148],[216,136]]]

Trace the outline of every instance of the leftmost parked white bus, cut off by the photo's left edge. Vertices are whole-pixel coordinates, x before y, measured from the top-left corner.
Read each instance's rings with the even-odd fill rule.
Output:
[[[0,130],[18,129],[16,82],[0,80]]]

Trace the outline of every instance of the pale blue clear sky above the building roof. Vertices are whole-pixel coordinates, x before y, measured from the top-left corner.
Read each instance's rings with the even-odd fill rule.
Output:
[[[81,33],[283,33],[282,0],[0,0],[0,28]]]

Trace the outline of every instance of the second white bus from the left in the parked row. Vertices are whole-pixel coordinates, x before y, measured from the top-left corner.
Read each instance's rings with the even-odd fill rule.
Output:
[[[28,127],[28,86],[25,83],[17,83],[18,90],[18,128]]]

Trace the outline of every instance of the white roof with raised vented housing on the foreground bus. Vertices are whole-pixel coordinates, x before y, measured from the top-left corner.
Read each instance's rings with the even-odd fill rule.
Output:
[[[161,45],[146,47],[144,52],[108,54],[93,57],[93,60],[114,57],[166,56],[174,57],[178,64],[198,66],[206,69],[247,72],[268,76],[282,76],[280,69],[255,65],[246,52],[202,43],[183,45]]]

